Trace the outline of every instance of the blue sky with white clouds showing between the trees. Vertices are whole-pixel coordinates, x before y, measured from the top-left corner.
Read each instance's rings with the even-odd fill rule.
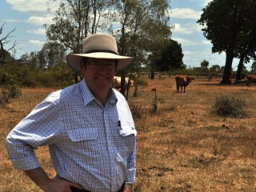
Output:
[[[42,49],[46,42],[43,24],[51,23],[53,14],[47,11],[47,1],[42,0],[1,0],[0,2],[0,25],[4,22],[2,38],[10,30],[15,31],[9,40],[9,45],[16,41],[15,57],[22,54]],[[202,14],[202,9],[210,0],[170,0],[170,25],[174,25],[172,38],[182,44],[184,54],[183,62],[186,66],[201,66],[205,59],[209,66],[225,65],[226,54],[212,54],[211,44],[203,36],[201,28],[196,22]],[[52,9],[58,8],[58,3],[53,4]],[[6,46],[7,48],[7,46]],[[236,70],[238,59],[234,59],[233,68]],[[247,64],[250,68],[250,64]]]

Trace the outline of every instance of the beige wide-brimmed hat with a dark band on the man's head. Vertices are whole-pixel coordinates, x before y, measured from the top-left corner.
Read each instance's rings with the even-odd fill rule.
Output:
[[[134,60],[132,57],[118,54],[118,47],[115,38],[109,34],[91,34],[84,40],[83,54],[68,54],[66,62],[74,69],[80,71],[80,62],[86,58],[117,59],[117,70],[129,66]]]

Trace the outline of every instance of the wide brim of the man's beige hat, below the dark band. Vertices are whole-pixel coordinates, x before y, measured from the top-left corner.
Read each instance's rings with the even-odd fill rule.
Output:
[[[94,52],[90,54],[68,54],[66,56],[66,62],[74,70],[80,71],[81,58],[106,58],[106,59],[117,59],[118,65],[117,70],[123,70],[134,60],[132,57],[121,56],[118,54],[110,54],[105,52]]]

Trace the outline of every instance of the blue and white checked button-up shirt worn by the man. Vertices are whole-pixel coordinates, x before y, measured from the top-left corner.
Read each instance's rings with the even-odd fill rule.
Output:
[[[136,130],[126,99],[111,90],[106,106],[82,82],[50,94],[6,138],[14,168],[39,166],[34,149],[49,146],[61,178],[94,192],[135,179]]]

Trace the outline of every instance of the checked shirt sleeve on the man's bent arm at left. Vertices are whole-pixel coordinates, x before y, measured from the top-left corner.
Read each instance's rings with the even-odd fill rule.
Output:
[[[39,166],[34,150],[46,145],[58,133],[56,104],[46,98],[38,104],[6,137],[6,149],[17,170]]]

